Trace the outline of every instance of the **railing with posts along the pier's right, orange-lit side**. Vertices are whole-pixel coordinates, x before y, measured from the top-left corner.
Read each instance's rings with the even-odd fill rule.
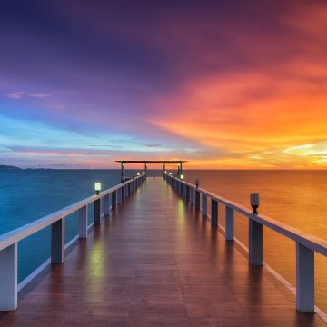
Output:
[[[263,265],[263,226],[280,233],[296,243],[296,309],[299,312],[314,312],[314,253],[327,256],[327,241],[304,233],[285,223],[281,223],[261,213],[255,213],[259,202],[251,203],[253,211],[241,204],[233,203],[221,196],[203,190],[191,183],[186,183],[170,174],[163,178],[186,201],[194,204],[196,210],[208,213],[207,203],[211,200],[211,223],[218,226],[218,203],[225,206],[225,238],[234,239],[234,212],[241,213],[249,219],[249,263]],[[258,194],[254,201],[258,201]]]

